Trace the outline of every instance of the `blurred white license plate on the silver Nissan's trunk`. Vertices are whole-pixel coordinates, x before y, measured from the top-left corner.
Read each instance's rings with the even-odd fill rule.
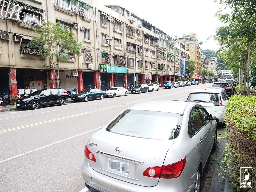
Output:
[[[116,173],[128,175],[129,163],[109,158],[108,159],[108,170],[111,170]]]

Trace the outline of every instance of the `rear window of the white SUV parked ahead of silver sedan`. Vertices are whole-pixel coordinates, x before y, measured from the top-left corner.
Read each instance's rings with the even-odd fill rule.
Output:
[[[214,103],[221,101],[219,93],[190,93],[188,101]]]

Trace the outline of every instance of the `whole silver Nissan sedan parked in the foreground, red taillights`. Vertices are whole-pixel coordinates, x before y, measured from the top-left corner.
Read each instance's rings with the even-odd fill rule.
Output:
[[[217,147],[216,127],[215,116],[198,103],[135,104],[85,144],[85,185],[90,191],[199,191]]]

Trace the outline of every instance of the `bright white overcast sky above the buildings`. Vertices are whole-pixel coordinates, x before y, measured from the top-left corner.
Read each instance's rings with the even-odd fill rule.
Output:
[[[213,0],[96,0],[103,5],[119,5],[146,20],[171,37],[196,32],[201,49],[216,50],[220,46],[213,39],[221,26],[214,17],[221,7]]]

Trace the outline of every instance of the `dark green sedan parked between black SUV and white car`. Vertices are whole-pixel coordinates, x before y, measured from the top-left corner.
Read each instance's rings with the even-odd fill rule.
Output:
[[[77,93],[75,95],[72,95],[71,99],[75,102],[78,101],[89,101],[91,99],[104,99],[104,97],[107,96],[106,91],[102,91],[100,89],[84,89],[80,93]]]

